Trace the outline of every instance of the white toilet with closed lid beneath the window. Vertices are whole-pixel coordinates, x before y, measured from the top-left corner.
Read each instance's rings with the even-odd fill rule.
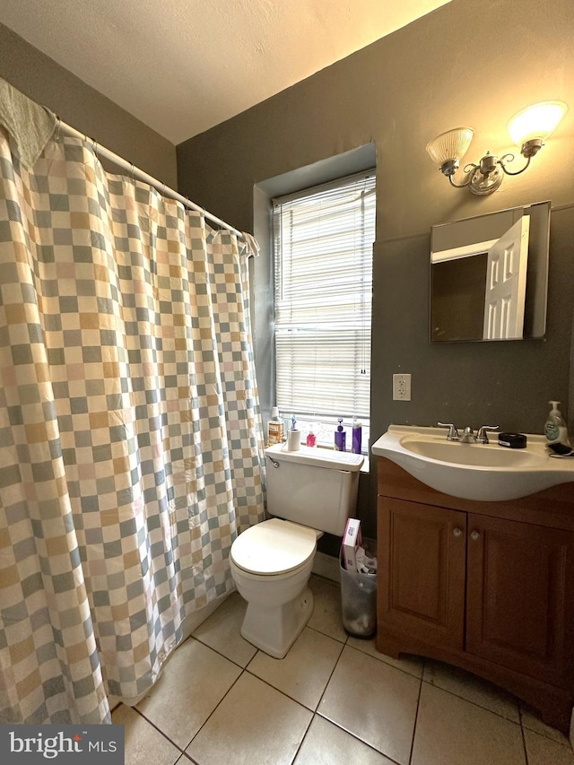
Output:
[[[324,533],[344,535],[357,505],[363,456],[283,444],[265,449],[267,515],[231,545],[231,576],[248,609],[241,635],[274,658],[283,658],[309,622],[308,587]]]

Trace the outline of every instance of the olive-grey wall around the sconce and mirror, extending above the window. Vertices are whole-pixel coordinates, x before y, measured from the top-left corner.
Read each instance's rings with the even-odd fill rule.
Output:
[[[552,397],[564,411],[570,403],[572,424],[573,29],[571,0],[453,0],[178,145],[180,191],[239,229],[253,230],[254,184],[376,144],[375,439],[390,422],[542,432]],[[491,196],[449,187],[425,152],[435,135],[466,125],[475,130],[466,161],[488,150],[516,152],[506,124],[539,100],[564,100],[569,114],[526,173],[505,178]],[[544,200],[554,209],[546,339],[431,345],[431,225]],[[268,352],[268,343],[262,347]],[[412,402],[392,400],[391,376],[398,371],[413,375]],[[372,475],[370,484],[360,515],[372,530]]]

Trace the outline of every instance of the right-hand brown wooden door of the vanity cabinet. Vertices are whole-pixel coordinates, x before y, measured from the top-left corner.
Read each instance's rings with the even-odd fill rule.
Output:
[[[574,682],[574,534],[469,514],[466,650]]]

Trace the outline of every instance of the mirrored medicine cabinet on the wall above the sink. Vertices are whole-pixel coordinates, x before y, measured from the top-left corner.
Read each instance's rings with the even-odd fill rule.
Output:
[[[544,337],[550,207],[431,227],[431,343]]]

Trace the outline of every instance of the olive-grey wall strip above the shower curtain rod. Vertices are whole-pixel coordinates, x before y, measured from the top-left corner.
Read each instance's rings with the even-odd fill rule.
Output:
[[[0,24],[0,77],[30,99],[51,109],[68,125],[89,135],[120,157],[125,157],[135,167],[145,170],[167,186],[177,188],[176,149],[173,143],[40,53],[3,24]],[[109,169],[113,168],[110,166]]]

